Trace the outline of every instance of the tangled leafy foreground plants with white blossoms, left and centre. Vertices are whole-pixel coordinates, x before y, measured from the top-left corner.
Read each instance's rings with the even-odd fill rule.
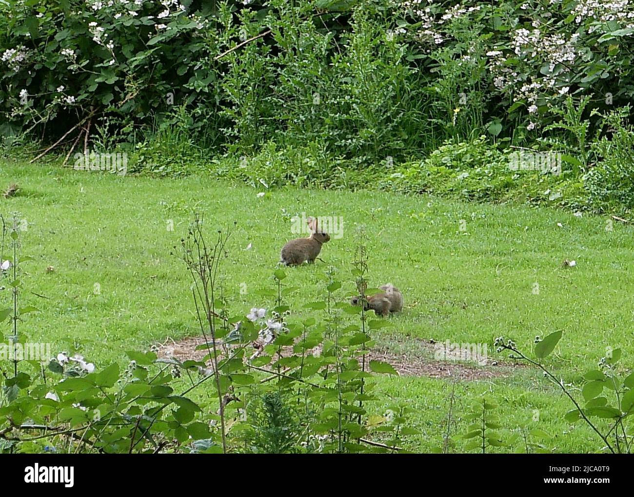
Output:
[[[13,255],[0,274],[13,288],[13,305],[3,300],[0,317],[9,319],[15,343],[18,323],[34,309],[18,306],[25,258],[18,257],[15,227],[6,231]],[[418,433],[406,426],[411,408],[396,404],[385,415],[366,409],[375,399],[373,375],[396,374],[366,357],[370,334],[386,323],[342,324],[342,313],[361,308],[340,301],[334,270],[325,275],[325,298],[306,306],[314,317],[294,318],[284,303],[294,289],[281,270],[273,275],[275,287],[261,293],[273,308],[230,317],[222,286],[230,236],[219,231],[208,242],[197,217],[181,241],[205,338],[202,360],[159,358],[155,350],[127,351],[124,366],[95,367],[70,353],[0,360],[0,451],[402,451],[404,440]]]

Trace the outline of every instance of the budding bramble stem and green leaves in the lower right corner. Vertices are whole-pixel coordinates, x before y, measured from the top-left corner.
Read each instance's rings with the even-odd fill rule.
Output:
[[[631,453],[633,437],[628,433],[628,424],[630,416],[634,414],[634,373],[623,377],[624,368],[618,367],[621,349],[607,347],[605,356],[598,362],[598,368],[583,375],[583,401],[579,401],[573,395],[573,387],[543,365],[543,359],[552,353],[561,337],[561,331],[543,340],[536,337],[534,359],[522,353],[512,340],[500,337],[496,339],[495,346],[498,352],[510,351],[510,358],[524,360],[540,368],[544,377],[557,385],[574,405],[574,409],[567,412],[564,418],[571,423],[583,420],[604,443],[602,451]],[[582,406],[583,402],[585,405]]]

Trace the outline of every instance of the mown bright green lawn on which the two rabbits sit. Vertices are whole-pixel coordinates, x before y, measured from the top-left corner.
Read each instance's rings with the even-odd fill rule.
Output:
[[[351,263],[356,231],[363,226],[371,283],[391,282],[406,301],[403,313],[390,318],[393,327],[377,336],[383,346],[403,349],[421,339],[486,343],[489,356],[498,359],[495,337],[512,337],[529,351],[535,336],[564,330],[547,359],[564,381],[578,382],[608,346],[622,348],[623,366],[631,364],[634,232],[616,221],[606,230],[606,218],[371,191],[289,188],[259,197],[259,190],[205,177],[116,177],[23,163],[0,162],[0,179],[0,189],[10,182],[20,186],[18,196],[0,198],[0,212],[6,218],[16,211],[27,220],[22,253],[35,260],[24,265],[25,285],[49,298],[22,295],[22,305],[41,311],[25,317],[22,331],[54,343],[55,352],[68,351],[68,339],[82,341],[82,354],[98,368],[113,360],[126,363],[126,350],[198,334],[190,276],[179,260],[180,239],[195,211],[205,214],[209,232],[237,222],[224,265],[232,315],[272,306],[259,292],[273,287],[280,248],[295,237],[290,219],[305,212],[341,217],[344,225],[343,236],[325,244],[320,255],[325,263],[288,268],[285,284],[299,287],[288,299],[296,316],[307,313],[304,303],[323,298],[330,266],[344,282],[339,297],[353,293]],[[167,229],[171,222],[173,231]],[[564,259],[575,260],[576,267],[563,268]],[[55,270],[47,272],[49,266]],[[0,302],[9,299],[8,292],[0,292]],[[451,382],[377,381],[386,404],[389,395],[418,410],[413,424],[422,436],[411,448],[429,451],[439,445]],[[602,447],[585,425],[563,420],[572,406],[534,368],[459,382],[458,431],[465,428],[460,417],[470,401],[484,393],[500,404],[505,427],[528,422],[552,434],[547,443],[552,451]]]

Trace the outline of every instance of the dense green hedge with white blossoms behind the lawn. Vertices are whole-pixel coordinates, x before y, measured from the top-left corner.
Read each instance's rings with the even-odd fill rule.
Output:
[[[566,156],[583,204],[631,206],[627,1],[22,0],[0,14],[5,145],[81,123],[94,148],[133,150],[133,170],[415,191],[443,172],[404,187],[404,165],[485,135]],[[467,196],[512,189],[494,170],[470,174],[484,184]]]

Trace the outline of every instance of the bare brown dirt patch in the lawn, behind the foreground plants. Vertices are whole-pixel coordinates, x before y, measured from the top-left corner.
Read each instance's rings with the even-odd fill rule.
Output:
[[[434,360],[434,342],[411,337],[382,337],[375,348],[368,351],[366,360],[384,361],[392,365],[401,376],[479,381],[506,378],[514,374],[514,369],[524,367],[519,363],[486,360],[484,363]],[[205,344],[204,337],[186,337],[178,341],[171,338],[158,344],[160,358],[177,358],[180,361],[202,361],[206,349],[196,348]],[[254,348],[254,351],[256,349]],[[292,354],[291,348],[282,350],[281,355]]]

